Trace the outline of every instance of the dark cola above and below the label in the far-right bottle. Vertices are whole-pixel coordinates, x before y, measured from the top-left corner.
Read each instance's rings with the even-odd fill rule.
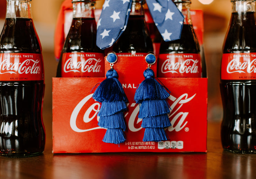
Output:
[[[232,13],[223,53],[256,52],[255,12]],[[221,80],[221,142],[233,152],[256,152],[256,81]]]

